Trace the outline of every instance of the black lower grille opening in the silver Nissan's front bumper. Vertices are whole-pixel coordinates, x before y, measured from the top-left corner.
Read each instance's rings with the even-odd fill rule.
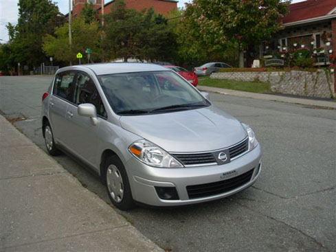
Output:
[[[216,194],[223,194],[230,192],[241,185],[245,185],[251,180],[254,169],[249,170],[232,179],[218,181],[214,183],[201,184],[201,185],[188,185],[187,192],[189,198],[203,198],[207,196],[214,196]]]

